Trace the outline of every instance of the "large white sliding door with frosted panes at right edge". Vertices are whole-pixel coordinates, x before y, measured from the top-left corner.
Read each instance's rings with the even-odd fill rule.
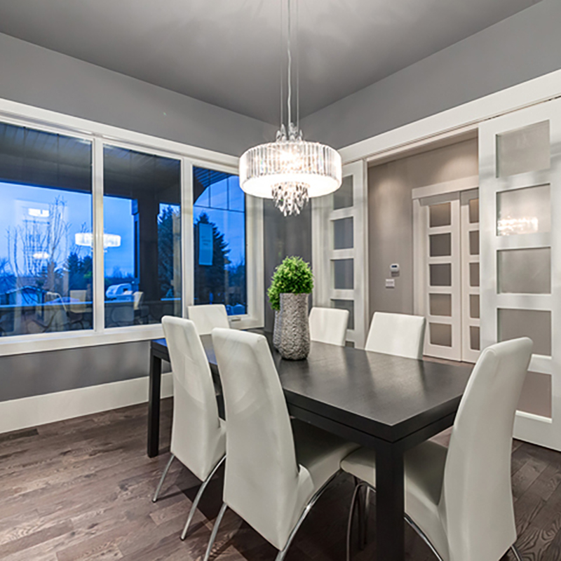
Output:
[[[561,100],[479,135],[482,347],[534,341],[515,437],[561,450]]]

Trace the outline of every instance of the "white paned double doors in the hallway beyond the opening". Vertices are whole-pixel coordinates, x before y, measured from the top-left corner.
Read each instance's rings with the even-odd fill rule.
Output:
[[[427,320],[427,356],[479,356],[478,202],[478,189],[414,199],[415,313]]]

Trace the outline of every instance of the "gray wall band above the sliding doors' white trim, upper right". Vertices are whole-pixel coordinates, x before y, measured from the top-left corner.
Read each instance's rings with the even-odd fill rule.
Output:
[[[542,0],[316,111],[302,130],[341,148],[553,72],[561,68],[560,22],[561,1]]]

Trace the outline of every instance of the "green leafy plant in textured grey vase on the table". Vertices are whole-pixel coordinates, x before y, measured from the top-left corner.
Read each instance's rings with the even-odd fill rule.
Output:
[[[275,311],[273,344],[283,358],[308,356],[308,295],[312,289],[313,274],[302,257],[286,257],[273,273],[267,295]]]

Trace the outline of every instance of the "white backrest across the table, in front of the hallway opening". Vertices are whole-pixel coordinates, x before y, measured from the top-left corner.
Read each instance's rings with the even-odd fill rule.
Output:
[[[386,355],[422,358],[426,319],[405,313],[374,313],[365,349]]]

